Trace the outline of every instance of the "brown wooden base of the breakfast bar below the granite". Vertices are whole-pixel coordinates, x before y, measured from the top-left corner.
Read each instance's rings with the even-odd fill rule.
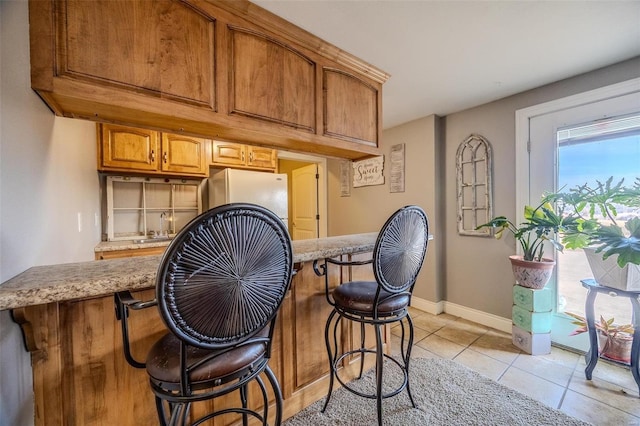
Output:
[[[370,254],[358,256],[366,258]],[[370,268],[352,270],[352,274],[354,279],[372,279]],[[346,276],[347,271],[332,271],[331,287]],[[154,290],[139,291],[134,296],[148,300],[154,297]],[[324,277],[315,275],[311,262],[303,263],[279,312],[269,364],[283,392],[283,418],[327,393],[329,367],[324,327],[330,311]],[[14,318],[22,327],[31,353],[36,425],[157,424],[147,373],[133,368],[124,358],[113,296],[28,306],[14,310]],[[129,320],[133,355],[144,361],[149,347],[166,328],[155,308],[132,312]],[[345,323],[340,334],[346,347],[359,345],[359,326]],[[388,327],[384,339],[390,342]],[[368,347],[375,347],[373,332],[367,332],[366,342]],[[345,373],[355,377],[357,361],[348,361]],[[367,364],[367,368],[373,367],[374,359]],[[250,389],[249,394],[250,405],[262,403],[257,389]],[[219,409],[238,402],[239,396],[233,393],[213,402],[198,403],[192,411],[197,415],[210,410],[212,405],[208,404]],[[269,412],[273,416],[275,409]],[[237,420],[238,417],[223,416],[214,424],[233,424]]]

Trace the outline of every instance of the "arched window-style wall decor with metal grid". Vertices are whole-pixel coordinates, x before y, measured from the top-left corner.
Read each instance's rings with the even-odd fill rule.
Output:
[[[493,217],[491,145],[480,135],[471,135],[456,153],[458,234],[491,236],[491,228],[476,230]]]

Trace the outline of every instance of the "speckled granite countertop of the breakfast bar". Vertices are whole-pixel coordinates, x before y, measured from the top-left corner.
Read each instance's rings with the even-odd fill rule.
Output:
[[[377,232],[371,232],[293,241],[293,261],[308,262],[372,251],[377,236]],[[149,243],[144,246],[149,247]],[[138,256],[34,266],[0,284],[0,310],[152,288],[160,257]]]

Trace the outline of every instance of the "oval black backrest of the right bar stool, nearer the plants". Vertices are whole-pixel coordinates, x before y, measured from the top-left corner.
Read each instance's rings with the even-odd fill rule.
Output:
[[[429,242],[429,221],[418,206],[406,206],[383,225],[373,249],[373,272],[389,293],[411,292]]]

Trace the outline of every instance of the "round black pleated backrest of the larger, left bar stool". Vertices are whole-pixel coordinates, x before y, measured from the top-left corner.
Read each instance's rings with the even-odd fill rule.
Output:
[[[291,239],[274,213],[247,203],[216,207],[165,252],[156,285],[161,317],[188,345],[241,344],[275,318],[292,268]]]

